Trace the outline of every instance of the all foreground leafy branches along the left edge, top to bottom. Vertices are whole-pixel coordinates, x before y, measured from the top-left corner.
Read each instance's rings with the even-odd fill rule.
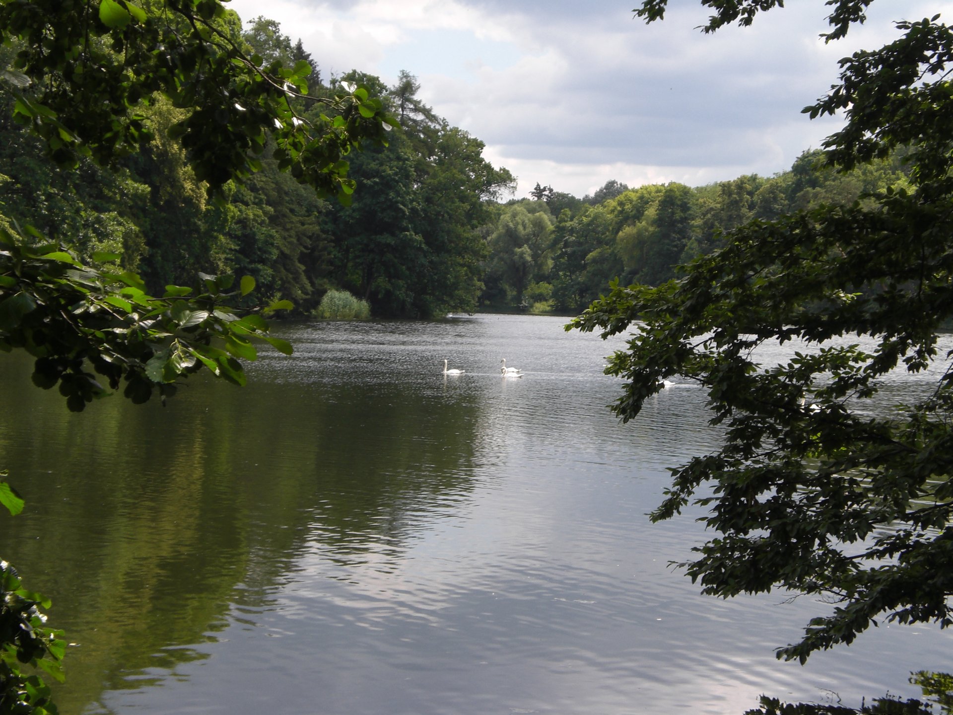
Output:
[[[156,136],[149,109],[168,101],[181,114],[167,135],[180,141],[193,178],[217,200],[226,184],[260,167],[254,154],[270,137],[282,168],[347,203],[354,182],[344,156],[363,142],[384,142],[385,126],[396,125],[379,99],[355,85],[315,98],[327,113],[303,119],[290,97],[308,98],[311,68],[287,68],[280,58],[263,66],[249,56],[237,15],[216,0],[3,3],[0,39],[18,50],[13,67],[0,73],[14,117],[65,169],[87,159],[114,168],[146,149]],[[163,165],[176,159],[167,153]],[[116,265],[117,253],[94,251],[84,263],[30,224],[0,224],[0,349],[28,351],[36,358],[33,382],[58,386],[73,411],[123,385],[133,402],[166,398],[202,368],[244,384],[238,360],[255,358],[253,340],[291,352],[268,335],[260,315],[290,303],[249,310],[252,276],[200,275],[194,296],[175,285],[151,296],[139,276]],[[12,514],[23,505],[3,479],[0,505]],[[37,610],[47,603],[2,561],[0,591],[0,711],[55,713],[49,688],[21,667],[60,675],[64,642]]]

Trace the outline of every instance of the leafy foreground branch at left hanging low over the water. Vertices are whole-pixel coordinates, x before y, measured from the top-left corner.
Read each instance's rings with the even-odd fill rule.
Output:
[[[83,265],[56,244],[30,238],[39,235],[0,229],[0,349],[36,358],[33,382],[58,386],[73,412],[108,394],[100,379],[145,402],[153,393],[171,395],[176,381],[202,367],[244,384],[238,360],[255,358],[252,340],[291,352],[268,336],[264,319],[231,307],[253,290],[251,276],[235,285],[233,276],[203,274],[194,292],[170,285],[153,297],[133,273]],[[288,307],[274,303],[265,312]]]

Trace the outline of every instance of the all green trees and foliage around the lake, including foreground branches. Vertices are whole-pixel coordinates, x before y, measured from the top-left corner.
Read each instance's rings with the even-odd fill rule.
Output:
[[[639,13],[660,19],[664,5],[645,0]],[[861,0],[836,5],[835,39],[862,21]],[[850,644],[882,614],[953,623],[951,371],[899,418],[871,419],[853,401],[876,395],[890,371],[927,370],[953,305],[943,124],[953,34],[936,17],[900,24],[908,35],[882,55],[841,61],[843,85],[806,112],[847,108],[845,129],[790,171],[694,188],[610,181],[582,198],[537,184],[509,199],[516,177],[436,116],[412,74],[393,87],[358,71],[325,81],[301,42],[266,18],[245,29],[215,0],[166,7],[174,13],[100,0],[84,29],[58,3],[45,13],[3,6],[3,27],[23,44],[17,52],[11,40],[0,61],[26,72],[2,72],[18,90],[0,108],[12,117],[0,128],[9,266],[0,347],[37,358],[34,385],[59,383],[80,412],[105,392],[86,358],[112,390],[125,378],[132,402],[154,389],[164,402],[179,376],[203,367],[244,384],[237,358],[255,358],[251,337],[292,351],[266,335],[260,315],[238,317],[243,309],[225,303],[253,291],[272,301],[255,309],[265,316],[292,307],[278,296],[298,315],[321,316],[328,296],[349,294],[375,317],[577,313],[592,301],[567,328],[615,337],[637,319],[645,326],[603,371],[626,380],[620,419],[678,376],[708,391],[709,423],[725,427],[720,451],[669,469],[673,487],[651,515],[715,503],[704,521],[725,538],[680,564],[702,593],[781,587],[838,599],[800,643],[778,650],[801,663]],[[708,29],[737,16],[729,8]],[[915,58],[906,74],[898,49]],[[916,74],[921,65],[929,72]],[[942,81],[920,86],[930,72]],[[114,261],[123,273],[97,267]],[[241,276],[237,291],[233,276],[212,275],[224,273]],[[196,278],[204,292],[182,299],[190,289],[174,284]],[[145,294],[163,286],[162,297]],[[767,371],[753,362],[768,340],[822,345],[855,334],[878,340],[876,352],[834,345]],[[2,481],[0,503],[14,515],[23,508]],[[855,543],[858,553],[842,551]],[[44,641],[36,606],[48,605],[6,562],[0,572],[0,589],[17,597],[6,632],[20,644],[2,654],[12,669],[0,684],[43,707],[49,691],[21,679],[18,664],[47,651],[58,662],[65,643],[52,631]],[[763,712],[842,712],[761,703]]]

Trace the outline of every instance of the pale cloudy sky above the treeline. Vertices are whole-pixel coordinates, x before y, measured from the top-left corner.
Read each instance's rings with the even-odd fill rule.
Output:
[[[838,60],[899,36],[897,20],[942,13],[953,0],[875,0],[867,21],[825,44],[823,0],[790,0],[749,28],[698,28],[697,0],[670,0],[646,25],[639,0],[231,0],[301,39],[323,78],[360,70],[394,85],[406,70],[420,98],[484,142],[483,156],[537,184],[592,194],[615,179],[635,188],[700,186],[785,171],[837,131],[840,117],[801,109],[837,82]]]

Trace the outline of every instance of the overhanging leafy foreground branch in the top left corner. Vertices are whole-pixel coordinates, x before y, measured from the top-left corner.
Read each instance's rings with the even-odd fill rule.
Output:
[[[35,92],[17,94],[15,115],[40,135],[51,158],[75,167],[81,156],[115,166],[154,138],[142,108],[163,94],[185,110],[170,132],[213,193],[253,173],[268,135],[282,168],[324,195],[347,196],[344,156],[384,140],[379,100],[365,88],[317,98],[333,110],[305,123],[289,102],[304,96],[307,63],[263,64],[236,36],[233,13],[216,0],[147,3],[43,0],[0,6],[4,41],[22,49],[14,67]],[[231,24],[230,24],[231,23]],[[155,48],[162,48],[155,51]],[[80,60],[80,58],[82,58]]]

